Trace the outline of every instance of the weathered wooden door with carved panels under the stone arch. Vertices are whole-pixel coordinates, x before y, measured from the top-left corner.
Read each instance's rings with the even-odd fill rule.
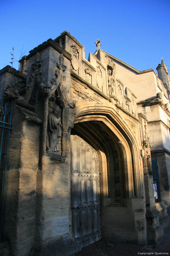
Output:
[[[93,147],[71,135],[72,222],[82,246],[101,239],[99,158]]]

